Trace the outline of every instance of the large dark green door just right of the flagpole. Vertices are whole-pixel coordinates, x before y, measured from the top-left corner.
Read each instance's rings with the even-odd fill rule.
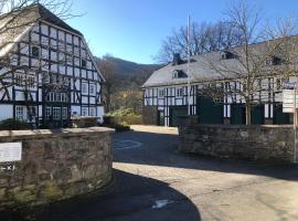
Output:
[[[223,104],[215,103],[211,97],[198,97],[200,124],[223,124]]]

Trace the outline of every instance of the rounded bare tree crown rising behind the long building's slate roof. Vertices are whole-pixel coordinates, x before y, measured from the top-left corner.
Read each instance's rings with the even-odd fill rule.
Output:
[[[241,32],[226,22],[191,23],[190,54],[196,55],[211,51],[224,50],[240,45]],[[173,30],[172,34],[162,41],[161,49],[155,57],[160,63],[168,63],[174,53],[182,57],[188,55],[188,31],[187,27]]]

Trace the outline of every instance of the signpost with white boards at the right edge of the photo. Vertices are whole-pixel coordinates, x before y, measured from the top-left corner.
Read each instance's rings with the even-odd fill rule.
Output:
[[[297,161],[297,84],[295,83],[284,83],[283,90],[283,112],[284,113],[292,113],[292,129],[294,129],[294,164]]]

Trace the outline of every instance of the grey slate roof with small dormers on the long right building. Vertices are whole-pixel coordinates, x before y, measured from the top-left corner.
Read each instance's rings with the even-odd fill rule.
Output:
[[[269,50],[276,49],[274,54],[283,57],[284,49],[280,49],[280,45],[283,45],[283,39],[284,38],[251,44],[249,50],[252,52],[252,55],[255,54],[255,59],[257,61],[259,57],[262,57],[262,55],[264,55],[265,57],[266,53],[268,53]],[[285,42],[290,45],[291,41],[295,41],[294,44],[297,45],[298,35],[291,35],[289,41]],[[237,46],[227,51],[235,54],[243,54],[243,50],[244,49],[242,46]],[[243,77],[244,75],[241,75],[240,73],[245,73],[245,69],[241,64],[241,62],[237,59],[223,60],[223,53],[224,52],[222,51],[217,51],[192,56],[192,62],[190,63],[190,82],[200,83],[216,80],[235,80]],[[215,69],[212,67],[212,65],[217,65],[217,67],[221,69],[221,72],[216,72]],[[168,65],[153,72],[152,75],[145,82],[141,87],[169,86],[188,83],[188,77],[174,78],[174,71],[183,71],[184,73],[188,73],[188,63],[183,62],[179,65],[172,65],[172,63],[169,63]]]

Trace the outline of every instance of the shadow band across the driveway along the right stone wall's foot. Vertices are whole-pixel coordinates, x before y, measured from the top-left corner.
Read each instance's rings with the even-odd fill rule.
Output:
[[[136,140],[139,148],[115,149],[114,161],[151,165],[220,172],[247,173],[273,177],[284,180],[298,180],[298,166],[278,161],[260,162],[253,160],[219,159],[178,151],[178,135],[145,131],[126,131],[114,135],[114,140]]]

